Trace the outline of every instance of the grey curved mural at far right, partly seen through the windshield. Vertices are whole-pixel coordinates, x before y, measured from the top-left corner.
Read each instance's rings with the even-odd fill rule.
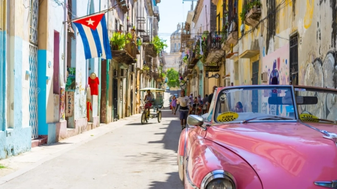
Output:
[[[337,58],[335,51],[328,51],[325,58],[316,58],[313,62],[307,64],[303,69],[304,76],[300,85],[337,89]],[[308,95],[308,94],[306,94]],[[322,119],[337,119],[337,95],[310,94],[318,96],[317,107],[312,110],[306,110],[305,105],[301,109],[311,111],[311,113]]]

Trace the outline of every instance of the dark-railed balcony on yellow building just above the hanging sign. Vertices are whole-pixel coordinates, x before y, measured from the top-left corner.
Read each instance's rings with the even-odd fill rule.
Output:
[[[207,37],[207,59],[206,63],[216,63],[222,58],[222,43],[227,39],[227,32],[210,32]],[[225,42],[226,43],[226,42]]]

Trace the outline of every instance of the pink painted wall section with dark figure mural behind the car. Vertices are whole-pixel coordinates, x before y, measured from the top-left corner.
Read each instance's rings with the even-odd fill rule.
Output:
[[[279,85],[289,84],[289,43],[262,58],[262,72],[268,73],[268,82],[272,84],[272,78],[278,78]]]

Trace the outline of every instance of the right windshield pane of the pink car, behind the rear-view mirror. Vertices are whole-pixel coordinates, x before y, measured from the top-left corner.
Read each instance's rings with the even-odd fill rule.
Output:
[[[297,108],[303,121],[318,122],[337,119],[337,93],[330,90],[295,88]],[[310,116],[308,116],[310,115]],[[307,118],[313,119],[307,119]]]

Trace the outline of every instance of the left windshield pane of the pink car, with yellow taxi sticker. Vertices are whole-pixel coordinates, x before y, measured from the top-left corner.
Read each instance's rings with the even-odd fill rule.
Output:
[[[225,88],[215,105],[215,122],[296,119],[290,86]]]

